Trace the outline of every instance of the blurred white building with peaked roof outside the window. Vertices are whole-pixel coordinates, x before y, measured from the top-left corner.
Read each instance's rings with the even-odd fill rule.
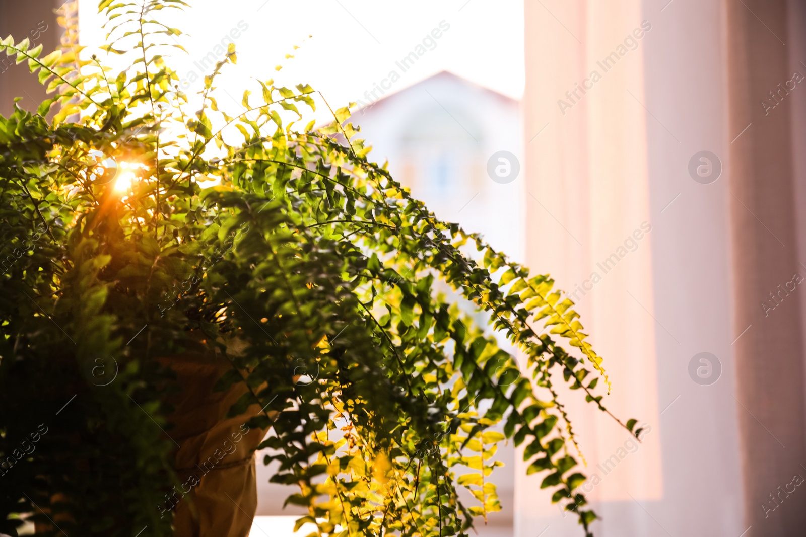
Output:
[[[393,177],[438,218],[483,233],[520,260],[522,177],[501,184],[487,171],[497,151],[520,159],[519,110],[517,101],[443,71],[359,109],[351,122],[372,145],[370,159],[388,160]]]

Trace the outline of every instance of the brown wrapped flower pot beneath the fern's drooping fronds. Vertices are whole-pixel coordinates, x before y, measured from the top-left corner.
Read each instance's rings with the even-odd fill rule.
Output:
[[[166,494],[160,514],[174,512],[175,537],[247,537],[257,509],[254,450],[266,430],[248,428],[260,412],[255,404],[243,415],[227,418],[231,405],[247,391],[239,382],[214,392],[218,378],[231,369],[219,353],[214,357],[181,355],[164,358],[177,373],[182,391],[171,403],[174,427],[168,435],[179,446],[181,481]]]

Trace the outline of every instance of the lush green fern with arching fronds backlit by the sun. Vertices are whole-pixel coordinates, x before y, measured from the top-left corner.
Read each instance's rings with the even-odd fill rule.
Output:
[[[309,85],[262,81],[227,112],[234,45],[189,111],[162,56],[181,31],[155,19],[184,7],[102,0],[119,71],[74,42],[0,42],[52,93],[0,118],[0,532],[172,535],[160,357],[217,351],[216,389],[247,386],[230,415],[259,405],[247,426],[316,535],[467,535],[500,509],[488,476],[507,439],[590,535],[555,382],[605,412],[609,382],[571,300],[414,200],[347,107],[297,125]],[[488,312],[524,374],[439,281]]]

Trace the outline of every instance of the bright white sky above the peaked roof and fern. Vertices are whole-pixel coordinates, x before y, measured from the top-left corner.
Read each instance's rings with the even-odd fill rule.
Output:
[[[228,68],[218,83],[237,101],[230,103],[233,107],[239,106],[250,77],[273,78],[276,85],[289,87],[310,84],[337,108],[348,101],[367,101],[365,92],[393,70],[400,78],[393,84],[384,82],[389,92],[448,70],[510,97],[523,93],[522,0],[191,2],[193,7],[181,17],[172,14],[165,21],[190,35],[179,41],[189,56],[177,50],[171,63],[186,80],[196,72],[197,87],[202,69],[195,64],[214,53],[225,35],[237,35],[233,40],[238,65]],[[79,5],[81,43],[97,47],[106,35],[100,27],[98,0],[80,0]],[[431,35],[435,28],[438,38]],[[293,51],[293,45],[301,48]],[[410,52],[423,50],[405,72],[396,65]],[[288,53],[295,57],[286,60]],[[275,70],[277,64],[284,66],[280,72]],[[220,98],[219,103],[224,105]]]

